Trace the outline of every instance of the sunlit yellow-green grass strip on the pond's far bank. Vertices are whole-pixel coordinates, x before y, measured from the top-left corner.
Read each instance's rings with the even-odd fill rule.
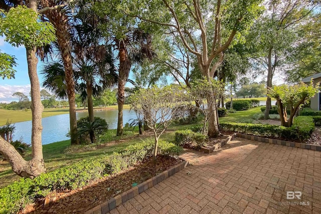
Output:
[[[99,107],[100,108],[100,107]],[[124,109],[129,109],[129,105],[124,105]],[[106,108],[101,108],[103,110],[115,110],[118,109],[117,105],[107,106]],[[83,109],[77,109],[77,111],[82,111]],[[68,108],[45,108],[44,112],[42,113],[42,117],[50,117],[59,114],[68,114]],[[16,122],[23,122],[31,120],[31,110],[28,109],[27,111],[16,111],[16,110],[5,110],[0,109],[0,126],[5,125],[7,120],[12,121],[13,123]]]

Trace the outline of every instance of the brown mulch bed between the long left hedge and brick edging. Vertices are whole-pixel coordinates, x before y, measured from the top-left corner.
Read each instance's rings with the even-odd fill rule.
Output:
[[[181,162],[181,159],[158,156],[154,165],[151,158],[148,158],[135,167],[101,178],[85,187],[51,193],[47,197],[56,197],[56,200],[49,207],[44,208],[45,198],[41,198],[26,207],[21,213],[84,213],[109,198],[132,188],[135,184],[142,183]]]

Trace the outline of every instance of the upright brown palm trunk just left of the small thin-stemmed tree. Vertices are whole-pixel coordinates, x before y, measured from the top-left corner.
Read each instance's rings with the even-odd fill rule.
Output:
[[[128,79],[131,63],[128,58],[127,49],[123,40],[119,41],[119,75],[118,75],[118,122],[117,122],[117,136],[123,133],[123,106],[125,102],[125,84]]]

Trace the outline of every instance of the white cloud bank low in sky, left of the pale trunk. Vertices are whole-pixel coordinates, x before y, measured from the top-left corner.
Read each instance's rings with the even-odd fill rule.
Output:
[[[13,97],[13,93],[22,92],[29,96],[30,84],[29,85],[0,85],[0,102],[11,102],[18,101],[17,97]]]

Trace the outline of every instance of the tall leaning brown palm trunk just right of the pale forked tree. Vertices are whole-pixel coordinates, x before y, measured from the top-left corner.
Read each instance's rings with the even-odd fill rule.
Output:
[[[56,4],[53,4],[56,5]],[[44,5],[52,7],[52,5]],[[70,48],[70,34],[68,32],[68,17],[61,13],[60,10],[49,10],[47,12],[49,21],[56,28],[56,37],[61,52],[62,60],[65,67],[65,79],[67,85],[67,95],[69,102],[69,119],[70,119],[70,141],[71,144],[79,144],[77,135],[77,117],[76,117],[76,92],[75,81],[72,68],[72,57]]]

